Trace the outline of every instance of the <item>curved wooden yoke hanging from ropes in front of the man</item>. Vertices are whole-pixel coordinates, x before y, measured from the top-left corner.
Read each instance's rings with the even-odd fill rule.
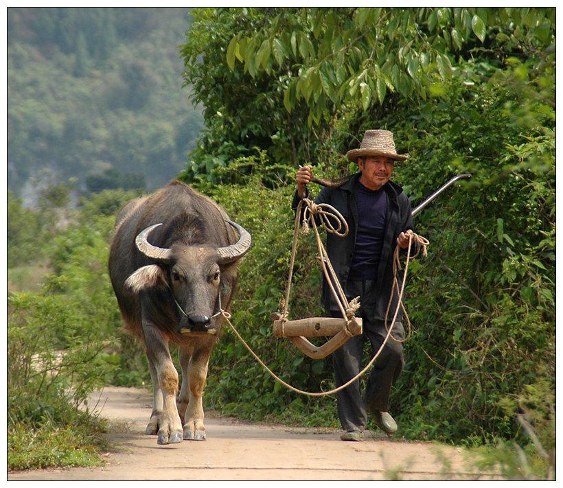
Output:
[[[362,319],[353,317],[350,321],[344,318],[308,317],[296,321],[288,321],[281,314],[272,314],[274,321],[274,336],[286,337],[299,350],[312,359],[322,359],[332,354],[350,337],[362,334]],[[323,345],[317,347],[309,342],[306,337],[331,338]]]

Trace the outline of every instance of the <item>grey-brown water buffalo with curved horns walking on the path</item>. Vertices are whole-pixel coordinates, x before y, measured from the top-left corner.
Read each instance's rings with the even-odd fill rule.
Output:
[[[238,237],[234,229],[238,231]],[[146,350],[154,388],[147,434],[203,440],[203,388],[251,236],[215,202],[172,181],[119,213],[109,272],[125,327]],[[170,357],[179,346],[182,386]]]

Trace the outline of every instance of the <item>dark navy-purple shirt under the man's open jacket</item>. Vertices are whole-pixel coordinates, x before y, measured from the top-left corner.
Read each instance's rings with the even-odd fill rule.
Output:
[[[358,181],[354,198],[358,207],[358,231],[348,279],[375,280],[385,235],[387,194],[382,188],[374,191]]]

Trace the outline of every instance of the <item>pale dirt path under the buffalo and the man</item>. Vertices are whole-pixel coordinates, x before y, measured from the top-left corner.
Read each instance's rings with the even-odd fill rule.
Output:
[[[8,480],[476,480],[459,448],[389,440],[370,432],[343,442],[336,430],[246,424],[206,418],[207,441],[157,445],[143,434],[152,394],[104,388],[97,410],[115,421],[116,452],[95,468],[45,469],[8,474]],[[92,405],[94,405],[93,402]]]

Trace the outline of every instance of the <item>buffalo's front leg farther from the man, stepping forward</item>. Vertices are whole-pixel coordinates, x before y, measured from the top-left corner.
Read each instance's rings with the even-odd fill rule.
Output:
[[[161,391],[162,413],[159,421],[157,442],[159,444],[179,443],[183,440],[182,423],[176,408],[176,393],[178,391],[178,372],[174,367],[168,341],[161,332],[150,323],[143,321],[143,332],[147,346],[147,356],[156,371],[157,383],[154,386],[154,395],[157,389]],[[158,400],[157,400],[158,402]],[[153,413],[158,410],[158,405],[153,406]],[[152,416],[151,416],[152,420]]]

